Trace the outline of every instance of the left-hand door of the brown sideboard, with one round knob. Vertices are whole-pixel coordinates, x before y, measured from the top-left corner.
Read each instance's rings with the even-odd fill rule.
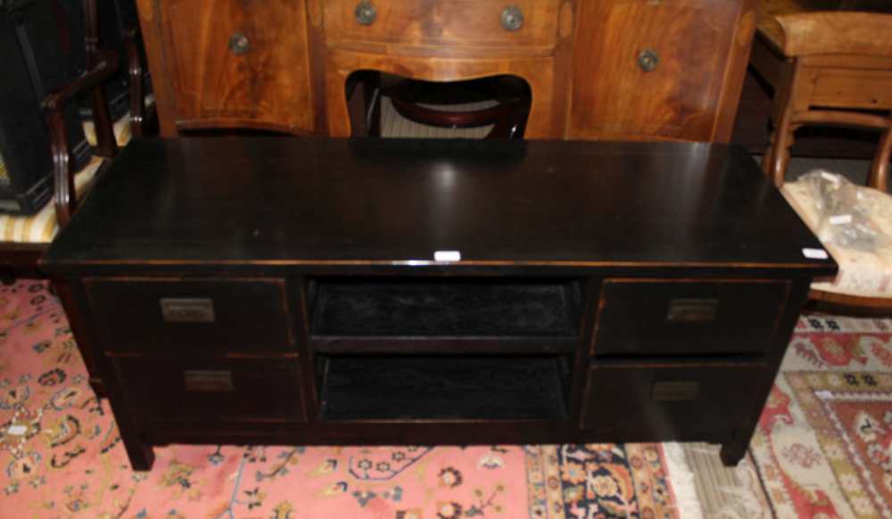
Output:
[[[312,129],[303,0],[160,0],[179,128]]]

